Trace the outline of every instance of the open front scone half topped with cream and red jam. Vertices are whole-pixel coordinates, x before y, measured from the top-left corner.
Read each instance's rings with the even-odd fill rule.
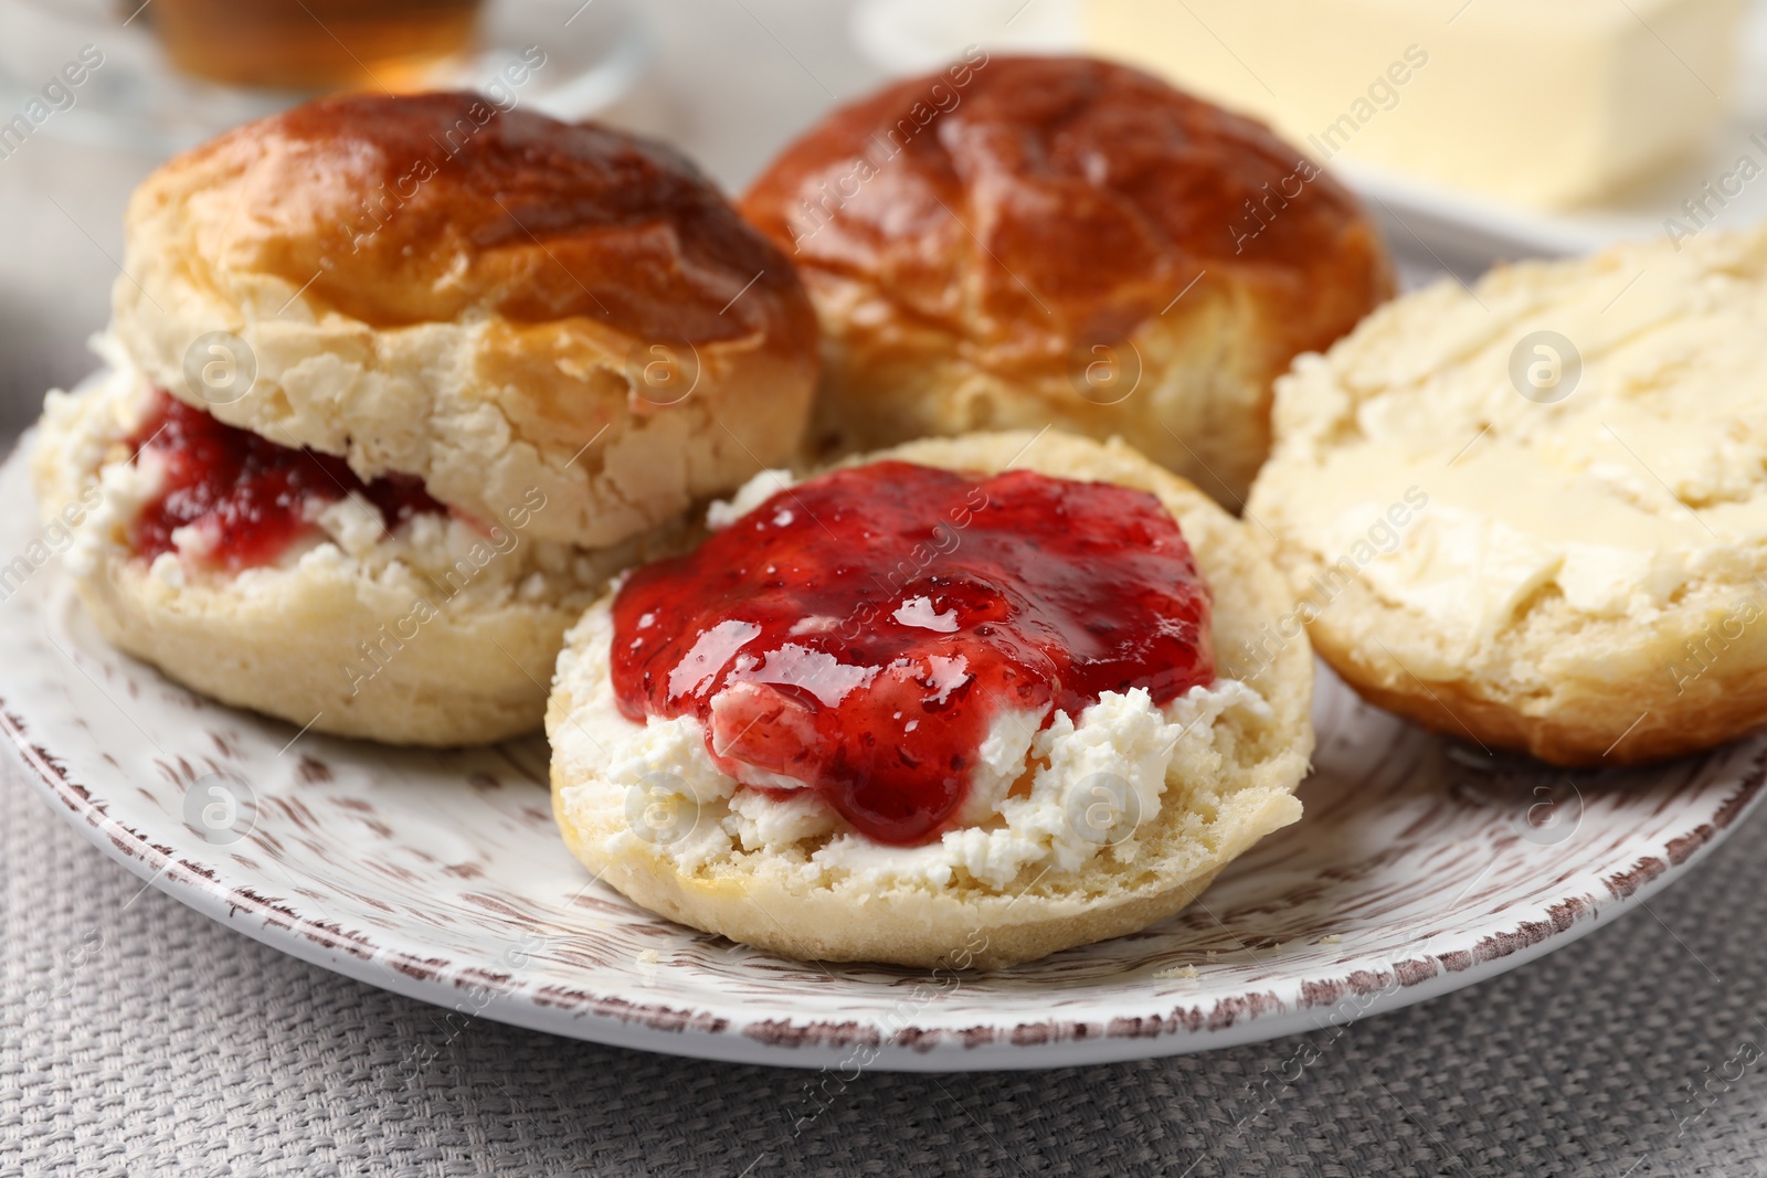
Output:
[[[924,440],[756,477],[567,636],[546,728],[573,853],[800,959],[1004,966],[1140,929],[1295,821],[1292,608],[1235,521],[1120,442]]]

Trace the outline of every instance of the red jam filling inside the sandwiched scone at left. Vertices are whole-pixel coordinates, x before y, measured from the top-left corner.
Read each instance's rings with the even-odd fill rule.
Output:
[[[129,537],[148,560],[175,549],[177,528],[200,525],[214,537],[209,558],[230,572],[270,563],[318,526],[313,500],[332,503],[352,491],[378,507],[389,528],[419,512],[447,512],[421,479],[362,482],[341,457],[276,445],[166,392],[154,397],[129,438],[136,457],[152,452],[164,470],[159,496],[141,509]]]

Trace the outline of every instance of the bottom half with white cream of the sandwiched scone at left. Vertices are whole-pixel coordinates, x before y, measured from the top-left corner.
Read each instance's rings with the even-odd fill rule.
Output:
[[[32,450],[72,588],[125,653],[297,729],[415,745],[530,733],[564,632],[610,576],[679,542],[673,526],[608,549],[546,540],[521,516],[544,500],[497,525],[419,512],[389,530],[352,493],[269,563],[228,572],[196,526],[147,560],[134,525],[163,487],[152,452],[131,461],[129,440],[154,392],[125,357],[101,353],[104,374],[48,397]]]

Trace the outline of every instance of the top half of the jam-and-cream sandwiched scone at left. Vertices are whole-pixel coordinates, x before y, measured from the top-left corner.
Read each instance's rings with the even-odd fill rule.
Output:
[[[537,535],[585,546],[788,456],[815,387],[790,261],[693,164],[470,94],[323,99],[170,161],[125,270],[113,330],[173,396],[479,517],[537,486]],[[249,394],[191,387],[210,332]]]

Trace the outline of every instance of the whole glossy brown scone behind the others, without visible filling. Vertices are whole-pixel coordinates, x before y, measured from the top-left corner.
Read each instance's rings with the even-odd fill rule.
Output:
[[[1392,291],[1355,198],[1124,65],[972,51],[829,115],[742,198],[822,316],[811,442],[1122,436],[1232,510],[1270,381]]]

